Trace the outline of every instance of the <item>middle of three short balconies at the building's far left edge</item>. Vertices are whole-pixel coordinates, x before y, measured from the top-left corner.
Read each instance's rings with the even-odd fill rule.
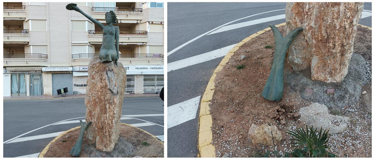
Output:
[[[26,29],[4,29],[4,43],[28,43],[30,42],[29,30]]]

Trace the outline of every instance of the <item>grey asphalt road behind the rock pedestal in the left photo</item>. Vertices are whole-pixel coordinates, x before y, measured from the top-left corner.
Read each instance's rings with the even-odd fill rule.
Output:
[[[163,139],[164,135],[164,109],[163,101],[158,96],[152,97],[125,97],[122,108],[122,115],[134,116],[129,119],[121,120],[122,123],[127,124],[145,124],[146,121],[155,124],[146,124],[139,126],[140,129],[159,136]],[[86,107],[84,98],[74,99],[32,99],[32,100],[17,100],[4,101],[4,142],[15,138],[21,134],[27,133],[39,127],[46,126],[58,121],[84,120]],[[139,114],[150,114],[142,116]],[[135,119],[134,119],[135,118]],[[137,120],[139,119],[139,120]],[[71,121],[71,120],[68,120]],[[159,125],[156,125],[159,124]],[[40,153],[44,147],[55,138],[37,138],[34,140],[23,141],[23,137],[45,135],[48,133],[56,133],[66,131],[73,127],[79,126],[79,123],[57,124],[43,127],[34,132],[21,136],[3,144],[4,157],[18,157],[29,154]],[[26,138],[27,139],[27,138]],[[21,141],[20,141],[21,140]],[[20,141],[20,142],[14,142]],[[34,155],[35,156],[35,155]]]

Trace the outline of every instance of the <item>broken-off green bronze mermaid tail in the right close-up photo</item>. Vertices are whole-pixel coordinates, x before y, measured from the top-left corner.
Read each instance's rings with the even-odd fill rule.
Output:
[[[294,37],[303,28],[296,28],[287,36],[283,37],[281,32],[274,25],[269,25],[275,37],[275,55],[273,56],[272,68],[266,85],[263,88],[262,96],[270,101],[280,101],[284,92],[284,61],[289,45]]]

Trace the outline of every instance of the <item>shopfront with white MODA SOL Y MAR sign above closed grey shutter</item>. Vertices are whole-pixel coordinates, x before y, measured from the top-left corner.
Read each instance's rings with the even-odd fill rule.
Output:
[[[68,87],[69,95],[73,94],[72,67],[43,67],[42,71],[46,77],[51,76],[52,92],[48,94],[57,95],[57,89],[65,87]]]

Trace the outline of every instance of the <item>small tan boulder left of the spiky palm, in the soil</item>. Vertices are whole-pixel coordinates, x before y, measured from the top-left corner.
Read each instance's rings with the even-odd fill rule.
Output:
[[[267,146],[276,145],[276,141],[280,141],[282,138],[281,132],[276,126],[269,126],[268,124],[262,124],[257,126],[251,124],[248,133],[248,140],[256,144],[264,144]]]

